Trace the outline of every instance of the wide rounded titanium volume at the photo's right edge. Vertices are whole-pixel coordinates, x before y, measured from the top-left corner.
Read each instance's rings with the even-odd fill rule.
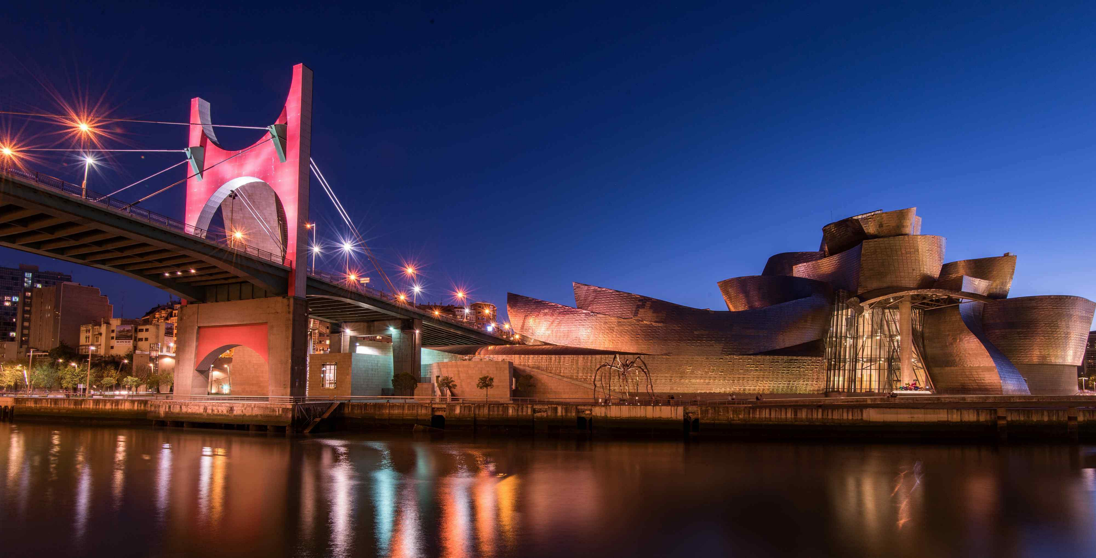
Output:
[[[983,327],[993,344],[1020,364],[1077,366],[1085,355],[1096,303],[1080,296],[1004,298],[985,307]]]

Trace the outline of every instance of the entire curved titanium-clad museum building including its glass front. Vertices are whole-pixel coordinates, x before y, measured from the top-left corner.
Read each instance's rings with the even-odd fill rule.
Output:
[[[887,391],[916,376],[940,392],[1076,391],[1096,303],[1007,298],[1014,255],[944,263],[945,248],[921,235],[915,208],[871,212],[824,226],[819,251],[775,254],[762,275],[720,281],[727,311],[582,283],[574,308],[510,294],[507,310],[515,332],[570,345],[552,354],[795,352],[825,356],[827,389]]]

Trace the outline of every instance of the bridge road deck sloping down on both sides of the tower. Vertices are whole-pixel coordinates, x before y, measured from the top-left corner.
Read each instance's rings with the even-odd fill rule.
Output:
[[[0,246],[113,271],[189,303],[288,293],[279,254],[185,225],[121,200],[24,169],[0,170]],[[370,322],[422,320],[422,345],[513,344],[457,320],[435,317],[393,295],[309,270],[309,316]]]

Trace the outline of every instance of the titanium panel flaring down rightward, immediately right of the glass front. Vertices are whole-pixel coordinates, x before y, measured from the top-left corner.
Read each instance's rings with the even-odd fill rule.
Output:
[[[925,310],[923,344],[933,387],[941,394],[1026,395],[1019,372],[985,339],[984,305]]]

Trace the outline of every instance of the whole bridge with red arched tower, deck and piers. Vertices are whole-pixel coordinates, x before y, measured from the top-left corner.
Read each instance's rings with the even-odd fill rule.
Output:
[[[304,396],[309,318],[331,323],[332,352],[352,352],[355,337],[385,338],[392,343],[393,373],[414,377],[422,346],[513,343],[353,275],[307,265],[307,67],[294,67],[276,124],[244,149],[216,141],[205,101],[192,100],[191,113],[185,151],[192,173],[182,220],[24,167],[0,168],[0,246],[119,273],[183,301],[175,392],[207,392],[217,356],[244,345],[266,361],[270,388],[240,395]],[[212,230],[213,214],[237,195],[248,213],[231,223],[226,217],[225,231]],[[254,234],[244,237],[244,227]]]

